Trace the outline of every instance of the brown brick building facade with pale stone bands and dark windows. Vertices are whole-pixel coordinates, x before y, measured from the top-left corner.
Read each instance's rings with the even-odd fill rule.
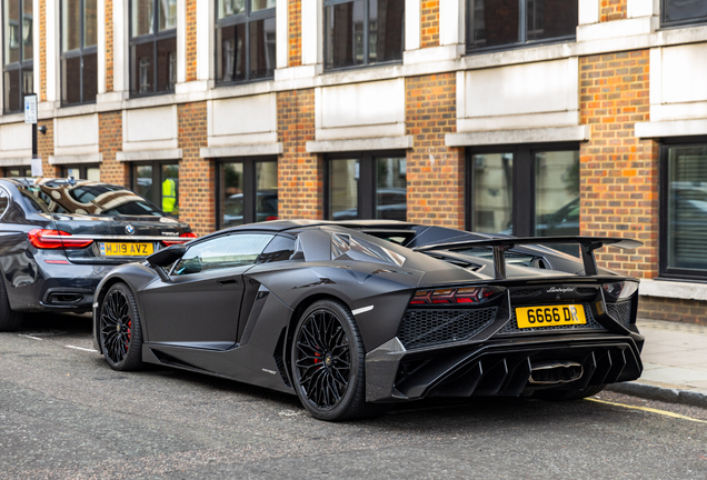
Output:
[[[643,280],[640,314],[707,323],[707,253],[690,249],[707,227],[705,1],[2,1],[3,78],[21,72],[3,83],[6,176],[28,174],[13,106],[33,90],[44,176],[158,204],[172,179],[199,234],[378,217],[635,238],[597,259]],[[73,49],[69,21],[88,32]]]

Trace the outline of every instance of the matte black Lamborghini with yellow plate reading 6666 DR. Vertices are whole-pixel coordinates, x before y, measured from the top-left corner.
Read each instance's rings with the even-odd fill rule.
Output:
[[[580,259],[538,246],[574,243]],[[636,279],[593,251],[395,221],[272,221],[112,270],[94,347],[296,393],[317,418],[425,397],[575,399],[640,376]]]

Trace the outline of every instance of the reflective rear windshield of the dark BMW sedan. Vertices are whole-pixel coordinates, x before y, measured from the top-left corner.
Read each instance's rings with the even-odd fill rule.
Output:
[[[155,204],[120,186],[38,179],[17,187],[34,208],[46,213],[166,217]]]

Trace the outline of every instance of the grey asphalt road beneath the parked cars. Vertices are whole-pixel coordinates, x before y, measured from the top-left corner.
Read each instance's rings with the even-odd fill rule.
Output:
[[[114,372],[90,350],[89,317],[0,333],[0,478],[707,478],[698,408],[603,392],[326,423],[295,397],[171,369]]]

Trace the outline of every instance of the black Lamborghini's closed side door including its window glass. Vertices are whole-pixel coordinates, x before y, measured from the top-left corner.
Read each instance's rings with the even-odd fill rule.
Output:
[[[189,247],[168,282],[142,292],[148,342],[217,350],[236,343],[243,273],[272,238],[226,233]]]

